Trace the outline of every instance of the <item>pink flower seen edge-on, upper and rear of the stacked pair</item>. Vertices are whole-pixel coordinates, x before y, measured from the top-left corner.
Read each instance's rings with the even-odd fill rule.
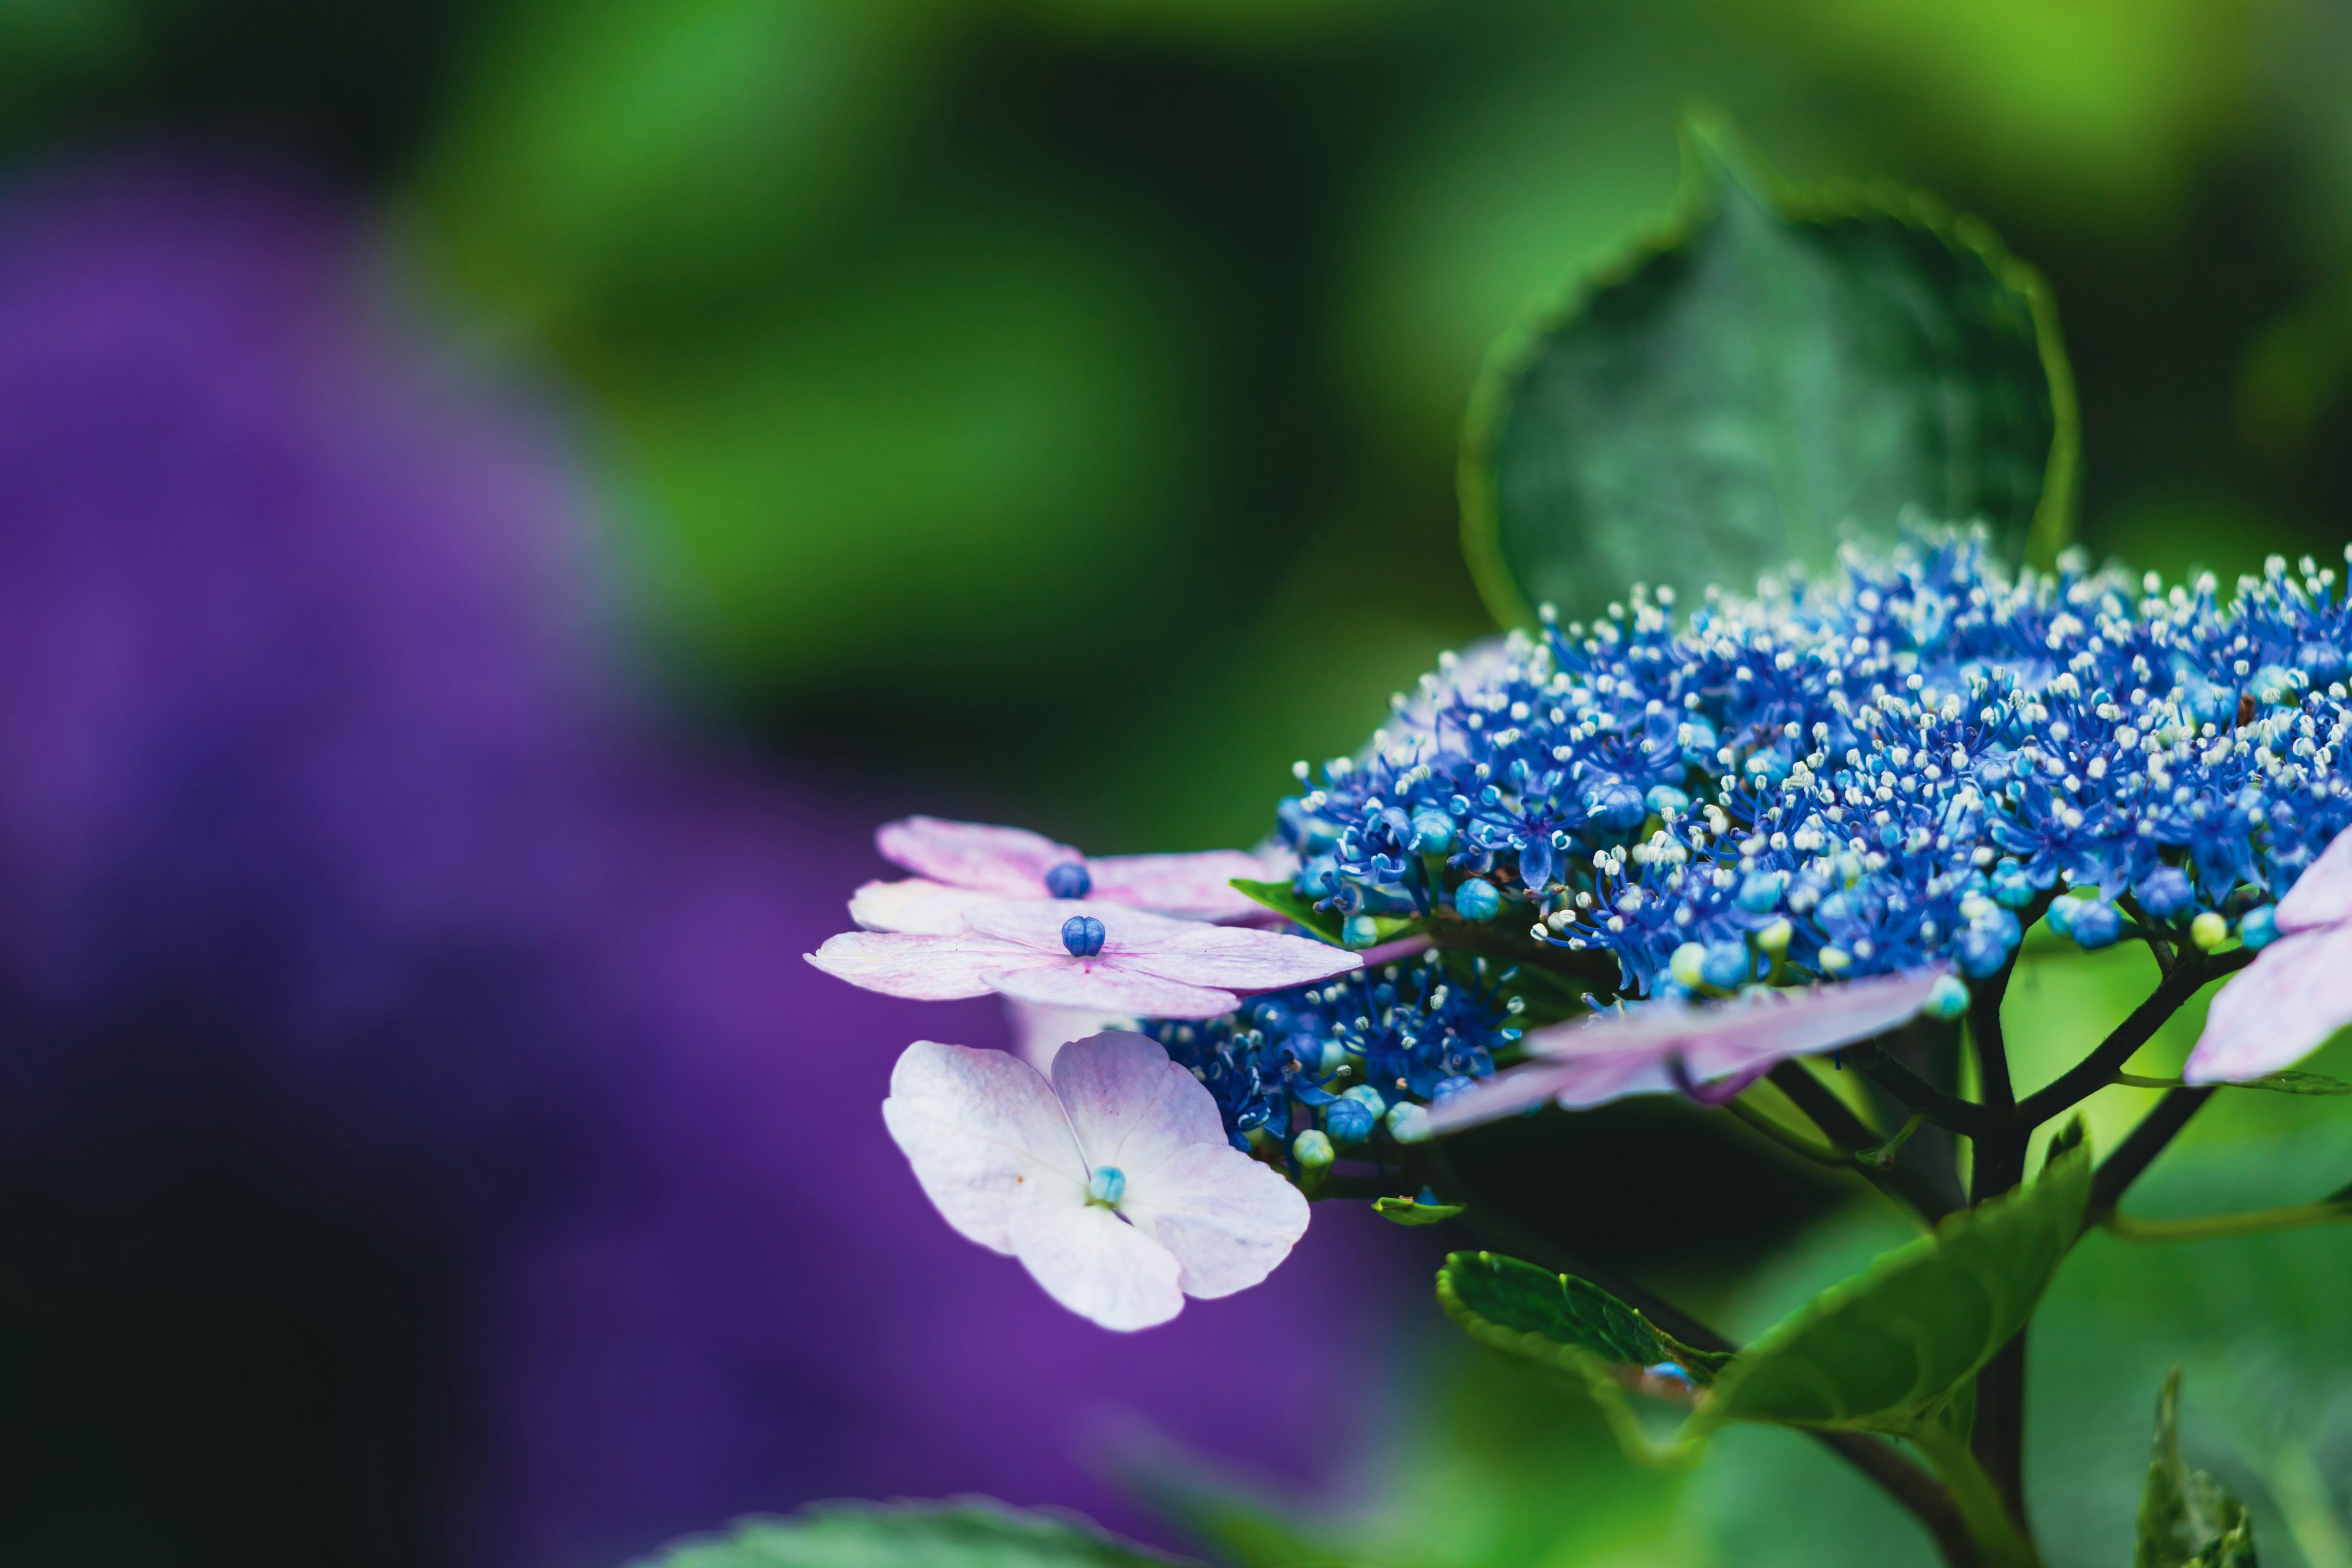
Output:
[[[875,830],[875,849],[915,875],[861,886],[849,903],[851,919],[868,931],[927,936],[955,936],[964,910],[1004,898],[1087,898],[1176,919],[1270,922],[1265,905],[1235,891],[1232,879],[1275,882],[1298,867],[1287,851],[1254,856],[1240,849],[1087,858],[1025,827],[936,816],[884,823]]]

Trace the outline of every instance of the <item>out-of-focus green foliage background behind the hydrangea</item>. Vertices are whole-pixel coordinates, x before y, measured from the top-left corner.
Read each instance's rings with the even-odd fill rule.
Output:
[[[2343,0],[0,0],[12,167],[127,139],[282,160],[381,214],[466,353],[572,411],[663,701],[1096,851],[1258,837],[1294,757],[1352,750],[1489,628],[1456,552],[1470,381],[1672,202],[1691,101],[1785,176],[1938,190],[2049,273],[2096,552],[2333,555],[2347,82]],[[2025,1011],[2072,1046],[2136,999],[2119,964],[2044,964]],[[2147,1206],[2312,1197],[2352,1166],[2340,1124],[2234,1105]],[[1682,1284],[1752,1328],[1882,1220]],[[1656,1237],[1658,1267],[1689,1241]],[[2352,1568],[2340,1234],[2098,1239],[2034,1354],[2056,1561],[2122,1561],[2187,1354],[2192,1458],[2256,1500],[2265,1561]],[[1444,1425],[1388,1446],[1324,1547],[1922,1554],[1797,1439],[1637,1474],[1550,1389],[1430,1356],[1397,1401]]]

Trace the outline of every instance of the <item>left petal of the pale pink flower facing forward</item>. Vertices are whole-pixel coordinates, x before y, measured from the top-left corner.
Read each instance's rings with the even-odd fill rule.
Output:
[[[957,1232],[1014,1251],[1014,1213],[1087,1204],[1087,1164],[1054,1088],[1004,1051],[917,1039],[889,1074],[882,1124]]]

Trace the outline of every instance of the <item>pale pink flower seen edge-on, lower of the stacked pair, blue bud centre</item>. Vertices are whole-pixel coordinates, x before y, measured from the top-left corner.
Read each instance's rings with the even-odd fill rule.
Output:
[[[997,992],[1117,1018],[1216,1018],[1247,992],[1308,985],[1362,959],[1303,936],[1207,926],[1120,905],[978,903],[955,933],[844,931],[807,954],[828,976],[917,1001]]]

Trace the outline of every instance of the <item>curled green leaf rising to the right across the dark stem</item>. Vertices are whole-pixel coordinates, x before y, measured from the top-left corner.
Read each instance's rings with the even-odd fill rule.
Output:
[[[1717,1375],[1693,1434],[1726,1420],[1917,1429],[2025,1326],[2089,1197],[2091,1154],[2077,1145],[2030,1187],[1830,1286]]]

